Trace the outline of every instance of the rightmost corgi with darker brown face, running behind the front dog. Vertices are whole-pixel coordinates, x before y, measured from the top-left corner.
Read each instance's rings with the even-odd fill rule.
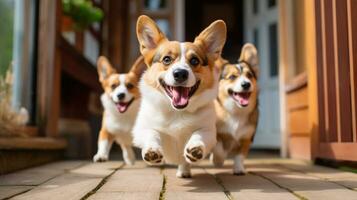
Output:
[[[252,44],[244,45],[238,64],[218,59],[221,68],[217,113],[217,144],[212,161],[222,166],[228,154],[234,155],[233,173],[245,174],[243,165],[258,123],[258,54]]]

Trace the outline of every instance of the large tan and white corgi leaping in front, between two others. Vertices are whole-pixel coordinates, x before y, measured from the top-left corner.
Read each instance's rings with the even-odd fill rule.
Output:
[[[136,28],[148,69],[140,81],[134,144],[148,164],[177,164],[177,177],[190,177],[190,164],[216,144],[213,101],[219,70],[214,62],[226,40],[226,25],[215,21],[194,42],[169,41],[144,15]]]

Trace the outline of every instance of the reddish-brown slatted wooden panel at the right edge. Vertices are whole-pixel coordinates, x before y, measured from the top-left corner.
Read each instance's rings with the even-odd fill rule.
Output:
[[[357,0],[315,0],[315,158],[357,161]]]

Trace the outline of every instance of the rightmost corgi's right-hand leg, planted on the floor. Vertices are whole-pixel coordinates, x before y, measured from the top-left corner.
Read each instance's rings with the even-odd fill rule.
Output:
[[[237,155],[234,157],[233,174],[237,176],[245,175],[244,159],[247,157],[251,139],[242,139]]]

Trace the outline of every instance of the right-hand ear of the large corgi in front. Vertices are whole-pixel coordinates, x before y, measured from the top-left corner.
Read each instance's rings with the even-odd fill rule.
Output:
[[[226,24],[222,20],[217,20],[203,30],[194,43],[202,46],[208,54],[217,59],[222,52],[226,37]]]

